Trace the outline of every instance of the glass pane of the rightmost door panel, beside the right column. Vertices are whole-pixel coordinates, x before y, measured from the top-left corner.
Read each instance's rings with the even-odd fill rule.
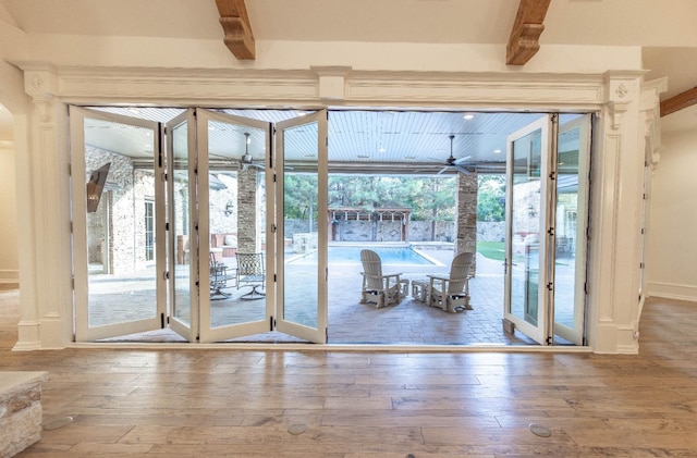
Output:
[[[579,180],[578,158],[580,128],[562,132],[559,136],[558,182],[557,182],[557,257],[554,260],[554,321],[574,327],[575,304],[583,299],[583,282],[576,278],[576,259],[583,262],[584,225],[578,225]],[[580,183],[585,186],[585,183]],[[584,194],[584,193],[582,193]],[[583,208],[580,209],[583,213]],[[583,221],[583,220],[582,220]],[[580,247],[578,247],[580,245]],[[580,250],[577,252],[577,249]],[[584,277],[583,271],[579,272]]]

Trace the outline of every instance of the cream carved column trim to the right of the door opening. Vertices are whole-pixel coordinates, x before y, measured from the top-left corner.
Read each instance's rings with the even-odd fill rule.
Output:
[[[640,76],[610,72],[604,89],[594,152],[589,344],[597,352],[636,354],[645,158]]]

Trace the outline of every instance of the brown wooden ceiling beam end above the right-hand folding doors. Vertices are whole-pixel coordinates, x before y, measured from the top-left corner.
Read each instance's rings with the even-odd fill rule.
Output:
[[[506,46],[505,63],[525,65],[540,49],[545,16],[552,0],[521,0]]]

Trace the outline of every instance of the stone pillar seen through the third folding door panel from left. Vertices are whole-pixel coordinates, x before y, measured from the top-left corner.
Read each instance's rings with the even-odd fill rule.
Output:
[[[237,172],[237,251],[259,252],[259,215],[257,211],[257,171],[250,166]]]

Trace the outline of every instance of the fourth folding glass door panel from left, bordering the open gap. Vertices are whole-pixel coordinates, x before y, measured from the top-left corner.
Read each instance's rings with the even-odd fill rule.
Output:
[[[283,219],[277,234],[277,327],[301,338],[327,342],[327,112],[277,124],[277,202]],[[286,238],[292,223],[286,187],[301,189],[307,231]]]

